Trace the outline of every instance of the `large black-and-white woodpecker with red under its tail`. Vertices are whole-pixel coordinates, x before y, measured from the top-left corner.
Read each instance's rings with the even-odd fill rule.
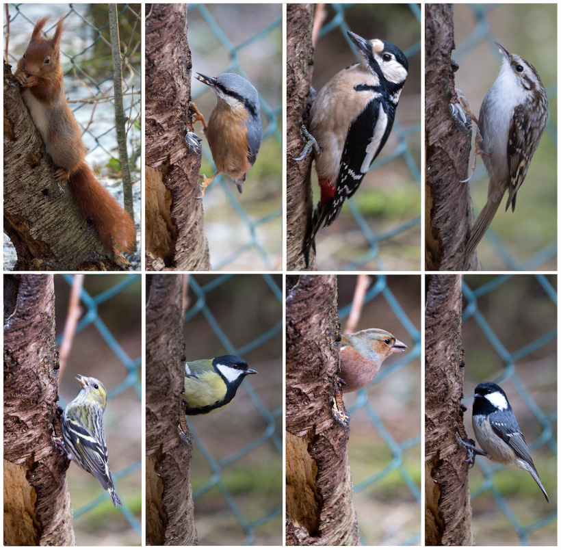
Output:
[[[365,40],[347,31],[362,55],[360,63],[341,70],[321,89],[310,112],[309,132],[322,194],[313,214],[306,264],[322,226],[335,221],[343,200],[356,192],[372,161],[386,143],[407,78],[407,58],[384,40]]]

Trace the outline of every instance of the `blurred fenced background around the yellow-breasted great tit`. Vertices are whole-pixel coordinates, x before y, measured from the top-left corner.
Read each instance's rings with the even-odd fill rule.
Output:
[[[280,275],[189,276],[187,361],[233,354],[257,371],[225,410],[187,417],[201,546],[283,543],[282,288]]]

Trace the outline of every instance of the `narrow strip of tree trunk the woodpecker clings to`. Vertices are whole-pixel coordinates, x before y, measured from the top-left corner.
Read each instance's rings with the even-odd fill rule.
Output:
[[[304,146],[300,128],[308,122],[313,66],[313,4],[287,4],[287,269],[306,270],[304,246],[311,233],[313,153],[293,161]],[[309,270],[315,270],[310,252]]]

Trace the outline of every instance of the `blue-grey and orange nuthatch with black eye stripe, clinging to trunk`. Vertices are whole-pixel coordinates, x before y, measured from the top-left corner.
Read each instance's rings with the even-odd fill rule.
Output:
[[[203,129],[216,165],[216,174],[207,178],[203,174],[200,197],[218,174],[230,176],[242,192],[246,172],[253,166],[261,146],[261,109],[257,90],[243,77],[233,73],[222,73],[218,77],[207,77],[197,73],[195,78],[210,86],[216,93],[218,103],[209,118],[205,119],[194,106],[196,120],[203,122]],[[194,104],[192,104],[194,105]]]

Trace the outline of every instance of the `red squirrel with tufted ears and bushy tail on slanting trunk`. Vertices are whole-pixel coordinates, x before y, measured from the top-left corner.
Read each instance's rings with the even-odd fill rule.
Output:
[[[74,200],[83,215],[93,222],[105,247],[116,254],[118,249],[131,251],[136,245],[133,220],[86,164],[87,149],[66,103],[59,51],[63,19],[48,39],[41,32],[47,19],[49,16],[37,21],[14,77],[21,84],[21,95],[47,153],[58,168],[57,181],[68,180]]]

